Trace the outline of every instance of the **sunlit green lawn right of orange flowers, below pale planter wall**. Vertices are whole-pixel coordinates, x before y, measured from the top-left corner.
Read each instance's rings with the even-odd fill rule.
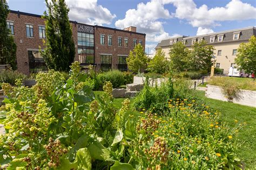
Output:
[[[214,110],[220,111],[221,119],[231,128],[235,126],[234,120],[246,122],[238,136],[238,155],[245,162],[246,169],[256,169],[256,108],[207,98],[205,91],[198,91],[198,97]]]

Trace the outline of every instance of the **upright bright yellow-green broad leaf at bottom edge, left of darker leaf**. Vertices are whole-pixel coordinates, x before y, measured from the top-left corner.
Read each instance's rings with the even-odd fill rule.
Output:
[[[80,148],[77,151],[76,161],[77,161],[78,169],[90,170],[92,168],[91,154],[86,147]]]

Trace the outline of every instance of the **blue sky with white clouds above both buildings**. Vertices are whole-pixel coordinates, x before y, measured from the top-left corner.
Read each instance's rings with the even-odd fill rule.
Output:
[[[50,0],[48,0],[50,1]],[[256,0],[66,0],[70,20],[146,33],[146,53],[163,39],[256,26]],[[8,0],[11,10],[42,15],[45,0]]]

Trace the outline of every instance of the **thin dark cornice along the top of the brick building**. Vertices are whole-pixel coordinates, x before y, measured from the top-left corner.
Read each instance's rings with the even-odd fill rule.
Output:
[[[10,12],[11,12],[11,13],[17,13],[17,15],[25,15],[25,16],[31,16],[31,17],[42,18],[41,15],[36,15],[36,14],[33,14],[33,13],[26,13],[26,12],[21,12],[21,11],[14,11],[14,10],[10,10]],[[74,23],[74,24],[84,24],[84,23],[78,23],[78,22],[73,21],[73,20],[70,20],[70,23]],[[89,25],[89,24],[85,24],[85,25]],[[93,26],[93,25],[91,25],[91,26]],[[120,30],[120,29],[111,28],[111,27],[106,27],[106,26],[94,25],[94,27],[98,27],[98,28],[102,28],[102,29],[107,29],[107,30],[122,31],[122,32],[126,32],[126,33],[140,34],[140,35],[146,36],[145,33],[139,33],[139,32],[133,32],[133,31]]]

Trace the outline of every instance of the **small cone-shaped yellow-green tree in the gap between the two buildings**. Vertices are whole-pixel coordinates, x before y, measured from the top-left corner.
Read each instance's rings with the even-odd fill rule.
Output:
[[[165,52],[161,48],[157,49],[156,55],[150,60],[149,66],[147,66],[150,72],[163,74],[166,73],[169,68],[169,61],[165,58]]]

